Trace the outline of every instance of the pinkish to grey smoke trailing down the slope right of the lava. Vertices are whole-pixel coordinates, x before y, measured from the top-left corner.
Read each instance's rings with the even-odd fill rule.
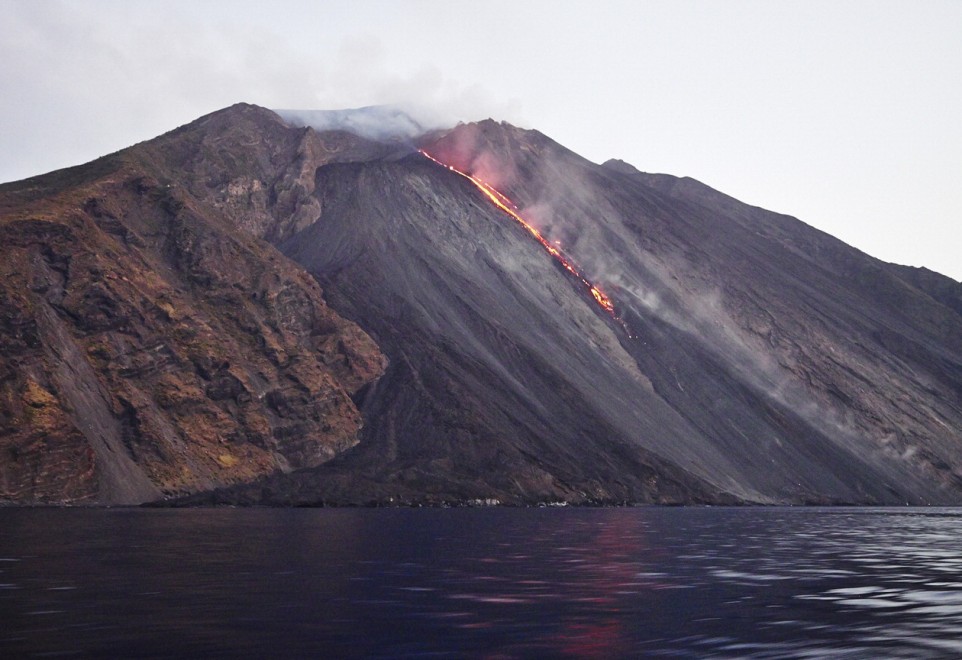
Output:
[[[502,189],[514,188],[519,213],[550,244],[562,242],[584,276],[609,287],[620,304],[701,338],[763,398],[794,410],[828,437],[861,434],[850,413],[820,402],[774,357],[759,350],[756,338],[726,309],[720,290],[699,283],[698,277],[681,275],[698,272],[686,257],[651,253],[626,233],[619,221],[623,211],[584,178],[585,163],[579,157],[548,153],[551,147],[516,134],[513,127],[492,128],[471,125],[452,131],[443,138],[443,158],[472,176],[498,181]],[[540,153],[542,148],[545,153]],[[634,247],[614,249],[617,245]]]

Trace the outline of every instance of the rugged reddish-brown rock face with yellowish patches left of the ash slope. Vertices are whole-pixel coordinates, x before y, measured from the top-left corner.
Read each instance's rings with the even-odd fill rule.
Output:
[[[213,168],[188,137],[159,148]],[[0,188],[0,500],[149,501],[358,442],[377,346],[155,147]]]

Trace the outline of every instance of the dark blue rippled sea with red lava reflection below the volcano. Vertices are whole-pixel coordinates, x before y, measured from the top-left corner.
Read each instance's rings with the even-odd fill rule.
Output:
[[[959,657],[958,509],[0,509],[0,657]]]

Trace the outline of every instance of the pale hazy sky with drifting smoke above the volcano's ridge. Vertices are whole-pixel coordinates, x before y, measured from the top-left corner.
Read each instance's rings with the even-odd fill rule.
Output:
[[[962,280],[962,0],[0,0],[0,181],[239,101],[492,117]]]

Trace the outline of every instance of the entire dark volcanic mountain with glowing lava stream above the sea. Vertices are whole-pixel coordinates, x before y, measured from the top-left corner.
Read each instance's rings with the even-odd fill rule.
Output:
[[[0,186],[0,499],[962,503],[959,283],[505,123],[284,116]]]

